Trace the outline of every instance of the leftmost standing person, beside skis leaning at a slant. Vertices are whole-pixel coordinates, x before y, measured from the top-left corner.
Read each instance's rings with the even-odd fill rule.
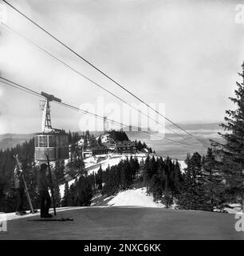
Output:
[[[14,181],[15,181],[15,189],[18,194],[18,204],[16,207],[16,213],[17,215],[24,215],[26,214],[26,211],[23,210],[23,203],[24,203],[24,194],[25,194],[25,189],[24,189],[24,182],[22,178],[22,170],[16,169],[14,172]]]

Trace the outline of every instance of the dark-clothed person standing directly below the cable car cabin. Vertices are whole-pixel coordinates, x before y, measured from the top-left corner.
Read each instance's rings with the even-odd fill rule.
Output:
[[[53,185],[49,182],[49,179],[46,177],[46,170],[48,166],[45,163],[42,163],[40,170],[37,174],[37,186],[41,199],[41,218],[52,218],[53,215],[49,214],[49,208],[51,206],[51,198],[49,195],[49,187]]]

